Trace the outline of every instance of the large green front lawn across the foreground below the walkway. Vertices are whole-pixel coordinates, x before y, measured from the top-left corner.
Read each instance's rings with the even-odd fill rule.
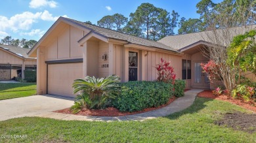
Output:
[[[190,108],[146,121],[62,121],[16,118],[0,122],[0,142],[256,142],[256,133],[215,125],[226,112],[248,112],[234,104],[196,98]]]

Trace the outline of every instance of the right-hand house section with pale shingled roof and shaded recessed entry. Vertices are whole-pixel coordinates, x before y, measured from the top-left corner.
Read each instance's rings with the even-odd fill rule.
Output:
[[[256,25],[173,35],[164,37],[158,42],[172,46],[179,52],[184,53],[184,56],[182,56],[182,80],[186,80],[186,87],[212,89],[213,84],[209,82],[207,74],[202,72],[200,66],[200,63],[209,61],[209,57],[206,56],[207,54],[202,54],[202,50],[205,49],[205,46],[208,46],[208,48],[223,46],[224,48],[224,46],[230,44],[234,36],[244,34],[251,29],[256,29]],[[256,77],[253,74],[248,73],[246,76],[256,82]]]

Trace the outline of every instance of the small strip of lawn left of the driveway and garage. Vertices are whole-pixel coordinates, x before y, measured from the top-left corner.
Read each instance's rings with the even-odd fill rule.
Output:
[[[35,83],[0,83],[0,100],[36,94]]]

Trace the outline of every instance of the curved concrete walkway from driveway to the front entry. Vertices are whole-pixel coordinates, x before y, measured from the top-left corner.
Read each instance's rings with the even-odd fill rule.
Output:
[[[201,89],[192,89],[185,92],[184,97],[180,97],[173,101],[173,103],[149,112],[144,112],[135,115],[118,116],[118,117],[104,117],[104,116],[78,116],[72,114],[61,114],[56,112],[42,112],[34,114],[33,116],[63,120],[81,120],[81,121],[143,121],[145,119],[154,119],[162,116],[167,116],[175,112],[179,112],[191,106],[194,103],[196,95],[200,93]]]

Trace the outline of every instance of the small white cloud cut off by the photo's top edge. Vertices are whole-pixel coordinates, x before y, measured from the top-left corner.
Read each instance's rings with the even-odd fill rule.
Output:
[[[57,3],[55,1],[49,1],[49,0],[32,0],[30,1],[30,7],[31,8],[39,8],[39,7],[51,7],[55,8],[57,7]]]

